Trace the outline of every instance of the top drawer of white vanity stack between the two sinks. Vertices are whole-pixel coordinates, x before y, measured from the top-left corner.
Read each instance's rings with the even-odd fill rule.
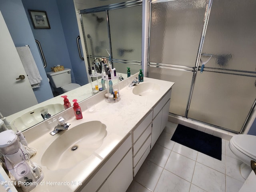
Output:
[[[148,125],[152,122],[152,114],[151,111],[142,122],[132,130],[132,142],[135,143],[140,135],[144,132],[144,130],[148,127]]]

